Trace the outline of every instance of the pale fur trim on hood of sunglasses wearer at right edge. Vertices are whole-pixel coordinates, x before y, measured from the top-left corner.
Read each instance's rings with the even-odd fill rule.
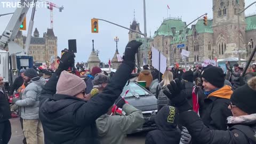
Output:
[[[244,116],[229,116],[227,118],[228,124],[245,124],[256,122],[256,114],[244,115]]]

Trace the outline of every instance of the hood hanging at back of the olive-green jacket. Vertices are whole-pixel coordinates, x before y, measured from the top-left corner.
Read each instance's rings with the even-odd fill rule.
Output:
[[[104,137],[109,130],[109,125],[107,124],[108,116],[109,115],[104,114],[96,120],[98,134],[100,137]]]

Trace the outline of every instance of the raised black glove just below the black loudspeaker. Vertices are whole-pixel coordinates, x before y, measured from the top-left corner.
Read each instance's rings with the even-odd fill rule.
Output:
[[[75,54],[71,52],[63,53],[58,69],[56,70],[57,75],[60,75],[63,70],[68,70],[75,63]]]

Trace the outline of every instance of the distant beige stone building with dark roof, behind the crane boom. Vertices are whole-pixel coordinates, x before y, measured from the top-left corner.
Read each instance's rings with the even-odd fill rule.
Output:
[[[19,31],[14,42],[25,49],[26,39],[27,37],[22,35],[22,31]],[[54,35],[53,29],[47,29],[43,37],[39,37],[39,31],[36,28],[31,37],[28,54],[33,56],[35,62],[50,62],[53,56],[56,58],[58,55],[57,47],[58,38]]]

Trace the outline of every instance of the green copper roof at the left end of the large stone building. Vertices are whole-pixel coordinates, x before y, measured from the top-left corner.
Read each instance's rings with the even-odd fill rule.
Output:
[[[166,19],[157,29],[154,37],[157,35],[172,36],[172,27],[175,27],[176,31],[183,30],[185,23],[181,19]]]

